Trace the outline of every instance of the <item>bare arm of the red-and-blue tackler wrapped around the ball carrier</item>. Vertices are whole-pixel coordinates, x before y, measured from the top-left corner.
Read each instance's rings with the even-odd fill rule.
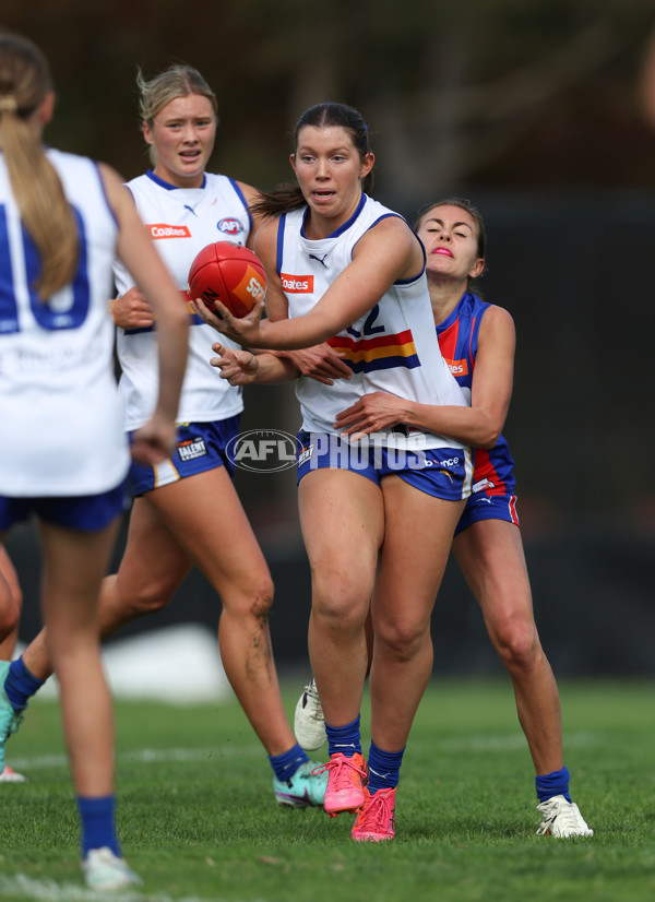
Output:
[[[342,411],[335,428],[353,437],[402,423],[449,436],[474,448],[498,442],[512,396],[515,348],[514,321],[502,307],[489,307],[478,333],[471,407],[434,406],[383,392],[366,394]]]

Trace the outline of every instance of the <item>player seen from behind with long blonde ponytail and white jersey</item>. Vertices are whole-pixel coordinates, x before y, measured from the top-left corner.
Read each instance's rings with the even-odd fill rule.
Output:
[[[188,320],[120,178],[43,144],[55,93],[43,54],[0,36],[0,542],[35,515],[41,608],[60,687],[86,883],[140,882],[115,824],[114,720],[97,629],[100,585],[124,512],[130,446],[114,376],[107,313],[120,257],[158,317],[157,389],[132,455],[163,460],[175,443]],[[8,604],[0,579],[0,609]],[[10,600],[11,601],[11,600]],[[13,679],[9,672],[13,668]],[[22,662],[0,662],[0,735],[15,732]],[[0,770],[4,750],[0,755]]]

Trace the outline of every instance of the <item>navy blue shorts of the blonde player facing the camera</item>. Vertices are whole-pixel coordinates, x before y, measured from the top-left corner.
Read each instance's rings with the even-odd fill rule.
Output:
[[[130,490],[136,498],[154,488],[177,483],[187,476],[225,466],[235,475],[235,465],[225,449],[239,431],[241,415],[230,416],[215,423],[178,423],[177,443],[171,458],[151,466],[132,462],[130,467]],[[130,440],[132,439],[130,432]]]

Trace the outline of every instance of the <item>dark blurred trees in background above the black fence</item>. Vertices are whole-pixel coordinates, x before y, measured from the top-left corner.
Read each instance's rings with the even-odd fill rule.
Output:
[[[127,177],[144,155],[134,75],[174,61],[214,86],[217,165],[272,187],[289,131],[323,99],[360,109],[379,185],[414,206],[456,185],[643,187],[652,138],[635,85],[651,0],[33,0],[2,24],[51,60],[51,140]]]

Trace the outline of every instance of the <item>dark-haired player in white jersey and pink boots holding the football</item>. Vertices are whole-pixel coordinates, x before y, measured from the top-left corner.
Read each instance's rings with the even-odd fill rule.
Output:
[[[361,116],[320,104],[296,126],[297,186],[263,198],[255,250],[269,280],[263,304],[228,334],[255,348],[330,340],[352,369],[332,385],[299,378],[300,522],[312,571],[309,649],[325,710],[330,762],[324,808],[358,811],[355,841],[390,840],[398,772],[432,670],[430,614],[453,531],[471,491],[466,441],[394,424],[374,441],[342,440],[336,414],[368,391],[464,411],[434,334],[425,251],[407,223],[368,197],[374,156]],[[198,305],[218,331],[224,320]],[[228,381],[297,375],[272,354],[227,351]],[[397,428],[394,428],[396,427]],[[417,541],[420,536],[420,541]],[[370,673],[371,744],[362,755],[359,710],[366,620],[376,643]],[[368,782],[367,782],[368,776]]]

